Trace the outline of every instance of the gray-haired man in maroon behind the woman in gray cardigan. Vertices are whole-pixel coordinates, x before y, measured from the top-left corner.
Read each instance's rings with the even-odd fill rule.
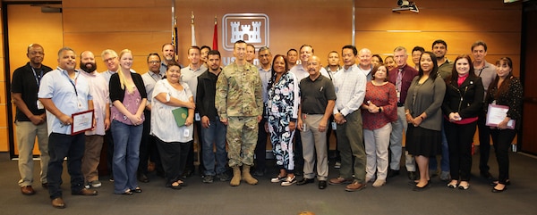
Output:
[[[397,67],[388,71],[388,81],[396,86],[397,93],[397,120],[392,122],[392,132],[389,138],[391,160],[389,163],[388,178],[399,175],[399,166],[403,153],[403,133],[408,125],[405,118],[405,99],[413,78],[418,75],[418,70],[406,64],[406,59],[408,59],[406,48],[397,46],[394,49],[394,61]],[[407,152],[405,152],[405,167],[408,178],[411,180],[417,179],[418,174],[416,174],[415,161],[413,156]]]

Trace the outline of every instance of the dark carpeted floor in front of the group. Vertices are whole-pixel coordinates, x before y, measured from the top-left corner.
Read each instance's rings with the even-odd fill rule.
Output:
[[[98,196],[87,197],[70,194],[70,178],[64,169],[62,187],[67,208],[60,210],[51,206],[47,190],[38,182],[34,184],[37,194],[22,195],[17,186],[17,161],[0,158],[0,214],[537,214],[537,159],[511,153],[512,185],[501,194],[491,193],[490,182],[476,176],[477,159],[475,155],[469,190],[449,189],[437,177],[431,178],[432,186],[424,192],[412,191],[405,172],[389,179],[386,186],[374,188],[370,183],[354,193],[345,192],[344,186],[320,190],[317,181],[284,187],[270,183],[270,177],[277,172],[272,168],[265,177],[258,178],[260,183],[256,186],[244,182],[238,187],[226,182],[203,184],[200,176],[192,176],[186,179],[189,186],[182,190],[164,187],[164,179],[151,174],[149,183],[140,183],[143,193],[131,196],[113,194],[113,182],[103,177]],[[490,168],[493,175],[498,174],[493,156]],[[336,176],[337,170],[330,167],[330,177]],[[35,177],[38,178],[38,170]]]

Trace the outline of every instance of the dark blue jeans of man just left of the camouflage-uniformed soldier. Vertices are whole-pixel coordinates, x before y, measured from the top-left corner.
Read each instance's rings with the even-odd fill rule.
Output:
[[[226,171],[226,125],[219,118],[210,121],[209,128],[201,128],[203,136],[202,159],[206,176],[214,176]],[[217,148],[217,153],[213,153],[213,144]],[[215,171],[215,161],[217,163]]]

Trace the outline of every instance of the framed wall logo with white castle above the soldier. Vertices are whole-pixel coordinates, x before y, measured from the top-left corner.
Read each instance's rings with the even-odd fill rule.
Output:
[[[244,40],[257,48],[268,46],[268,15],[264,13],[227,13],[222,38],[224,49],[233,51],[234,42]]]

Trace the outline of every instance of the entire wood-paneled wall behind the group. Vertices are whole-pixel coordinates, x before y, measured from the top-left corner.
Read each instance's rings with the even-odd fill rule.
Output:
[[[133,69],[147,70],[149,53],[161,53],[161,45],[172,39],[172,1],[177,18],[179,61],[188,64],[186,50],[191,45],[191,12],[195,15],[198,45],[212,45],[214,17],[218,21],[218,44],[223,57],[232,53],[222,48],[222,17],[227,13],[265,13],[270,21],[270,44],[273,54],[285,54],[289,48],[314,46],[315,54],[326,62],[329,51],[340,52],[353,41],[353,0],[64,0],[62,13],[64,45],[77,53],[93,51],[98,70],[106,70],[100,52],[129,48],[134,54]],[[368,47],[386,56],[397,45],[412,49],[421,45],[430,49],[437,38],[447,41],[447,57],[470,54],[470,45],[478,39],[489,45],[489,62],[510,56],[519,74],[521,4],[503,4],[501,0],[416,0],[419,13],[394,13],[396,0],[358,1],[355,17],[355,45]],[[4,37],[4,34],[2,35]],[[30,41],[29,41],[30,42]],[[2,46],[4,50],[4,46]],[[48,48],[48,59],[54,50]],[[4,60],[4,56],[0,55]],[[0,61],[0,74],[4,66]],[[410,62],[410,60],[409,60]],[[50,66],[55,66],[51,64]],[[0,78],[0,151],[7,150],[4,75]],[[4,132],[4,133],[3,133]],[[5,137],[4,137],[5,136]],[[5,144],[4,144],[5,143]]]

